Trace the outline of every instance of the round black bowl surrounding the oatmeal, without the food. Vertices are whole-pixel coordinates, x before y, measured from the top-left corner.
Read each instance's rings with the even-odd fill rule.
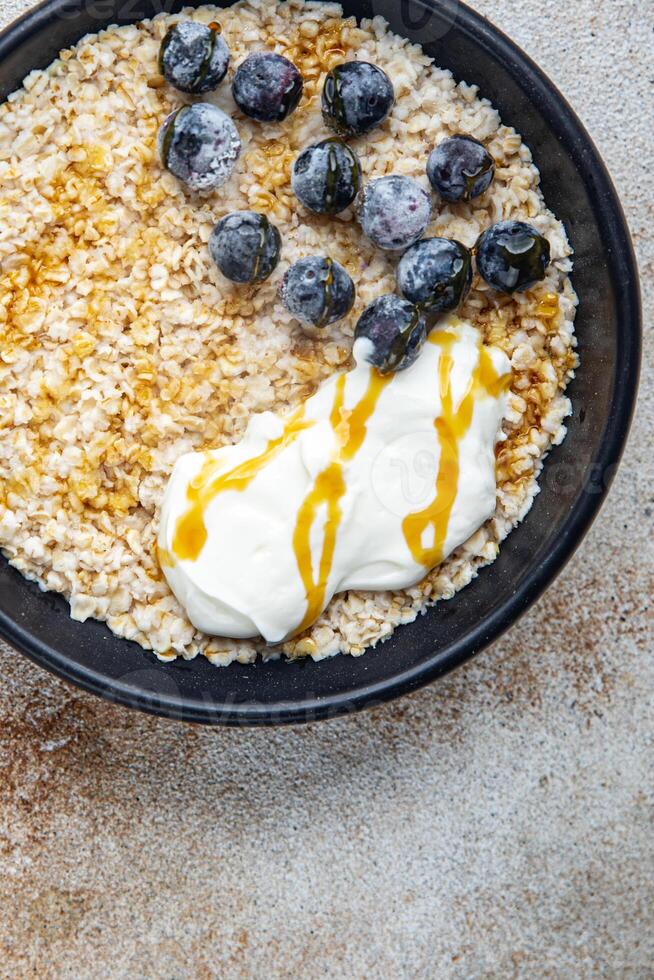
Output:
[[[0,97],[84,34],[181,6],[48,0],[0,37]],[[565,221],[576,254],[581,368],[569,391],[568,436],[498,560],[453,600],[358,659],[163,665],[100,623],[73,622],[63,599],[40,592],[0,558],[0,634],[61,677],[122,704],[186,721],[280,724],[412,691],[494,640],[552,582],[595,517],[620,458],[640,361],[638,276],[619,201],[587,133],[533,62],[456,0],[343,0],[343,6],[357,17],[383,14],[437,64],[478,84],[531,147],[545,197]]]

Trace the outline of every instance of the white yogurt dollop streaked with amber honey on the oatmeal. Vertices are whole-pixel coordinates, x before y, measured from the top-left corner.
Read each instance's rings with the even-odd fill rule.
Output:
[[[419,582],[495,510],[506,355],[457,318],[396,374],[367,343],[291,416],[176,463],[159,554],[197,629],[277,643],[336,592]]]

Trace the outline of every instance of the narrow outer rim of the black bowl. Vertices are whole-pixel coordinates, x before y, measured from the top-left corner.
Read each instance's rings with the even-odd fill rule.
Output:
[[[437,9],[448,0],[419,0]],[[0,32],[0,61],[22,41],[41,33],[62,7],[70,17],[84,0],[44,0],[8,24]],[[137,22],[136,19],[134,22]],[[498,639],[539,598],[567,564],[597,516],[617,469],[627,441],[636,404],[642,348],[642,307],[636,256],[622,205],[599,151],[576,113],[553,82],[506,34],[485,17],[457,0],[457,29],[477,46],[502,62],[520,87],[529,89],[529,99],[540,115],[562,138],[567,153],[590,175],[588,195],[602,216],[607,251],[616,263],[615,278],[622,284],[618,312],[621,337],[622,383],[615,386],[611,410],[595,463],[608,474],[601,492],[582,494],[570,510],[562,532],[545,560],[530,569],[514,594],[494,609],[463,640],[457,640],[417,666],[385,680],[363,684],[354,690],[275,705],[200,704],[176,695],[136,691],[120,680],[72,661],[65,654],[32,636],[29,629],[0,610],[0,638],[60,678],[106,700],[159,716],[202,724],[236,726],[281,725],[332,718],[364,707],[379,705],[414,691],[442,676]]]

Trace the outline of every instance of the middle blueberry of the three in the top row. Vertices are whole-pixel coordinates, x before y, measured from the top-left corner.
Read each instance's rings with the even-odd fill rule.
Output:
[[[304,82],[292,61],[268,51],[255,51],[239,65],[232,83],[241,112],[259,122],[281,122],[297,109]]]

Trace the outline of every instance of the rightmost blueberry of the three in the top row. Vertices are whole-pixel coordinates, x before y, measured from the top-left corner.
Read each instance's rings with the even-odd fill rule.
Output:
[[[362,136],[386,119],[395,103],[393,83],[367,61],[347,61],[327,75],[322,114],[339,136]]]

